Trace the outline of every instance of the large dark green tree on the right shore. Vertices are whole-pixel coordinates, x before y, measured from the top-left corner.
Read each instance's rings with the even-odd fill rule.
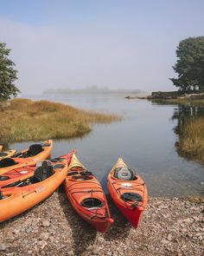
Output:
[[[170,80],[182,92],[204,91],[204,36],[182,40],[175,52],[178,78]]]

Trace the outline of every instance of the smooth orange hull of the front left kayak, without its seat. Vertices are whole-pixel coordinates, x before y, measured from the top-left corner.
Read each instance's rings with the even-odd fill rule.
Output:
[[[54,162],[54,165],[57,164],[58,167],[54,169],[54,174],[44,181],[25,187],[7,187],[1,189],[3,199],[0,200],[0,222],[9,220],[31,207],[35,207],[35,205],[54,193],[65,180],[68,169],[67,159]]]

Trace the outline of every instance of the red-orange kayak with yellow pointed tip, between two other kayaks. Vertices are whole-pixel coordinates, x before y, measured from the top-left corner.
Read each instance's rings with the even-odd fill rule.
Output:
[[[73,209],[99,232],[105,233],[113,220],[99,181],[73,154],[65,180],[67,198]]]

